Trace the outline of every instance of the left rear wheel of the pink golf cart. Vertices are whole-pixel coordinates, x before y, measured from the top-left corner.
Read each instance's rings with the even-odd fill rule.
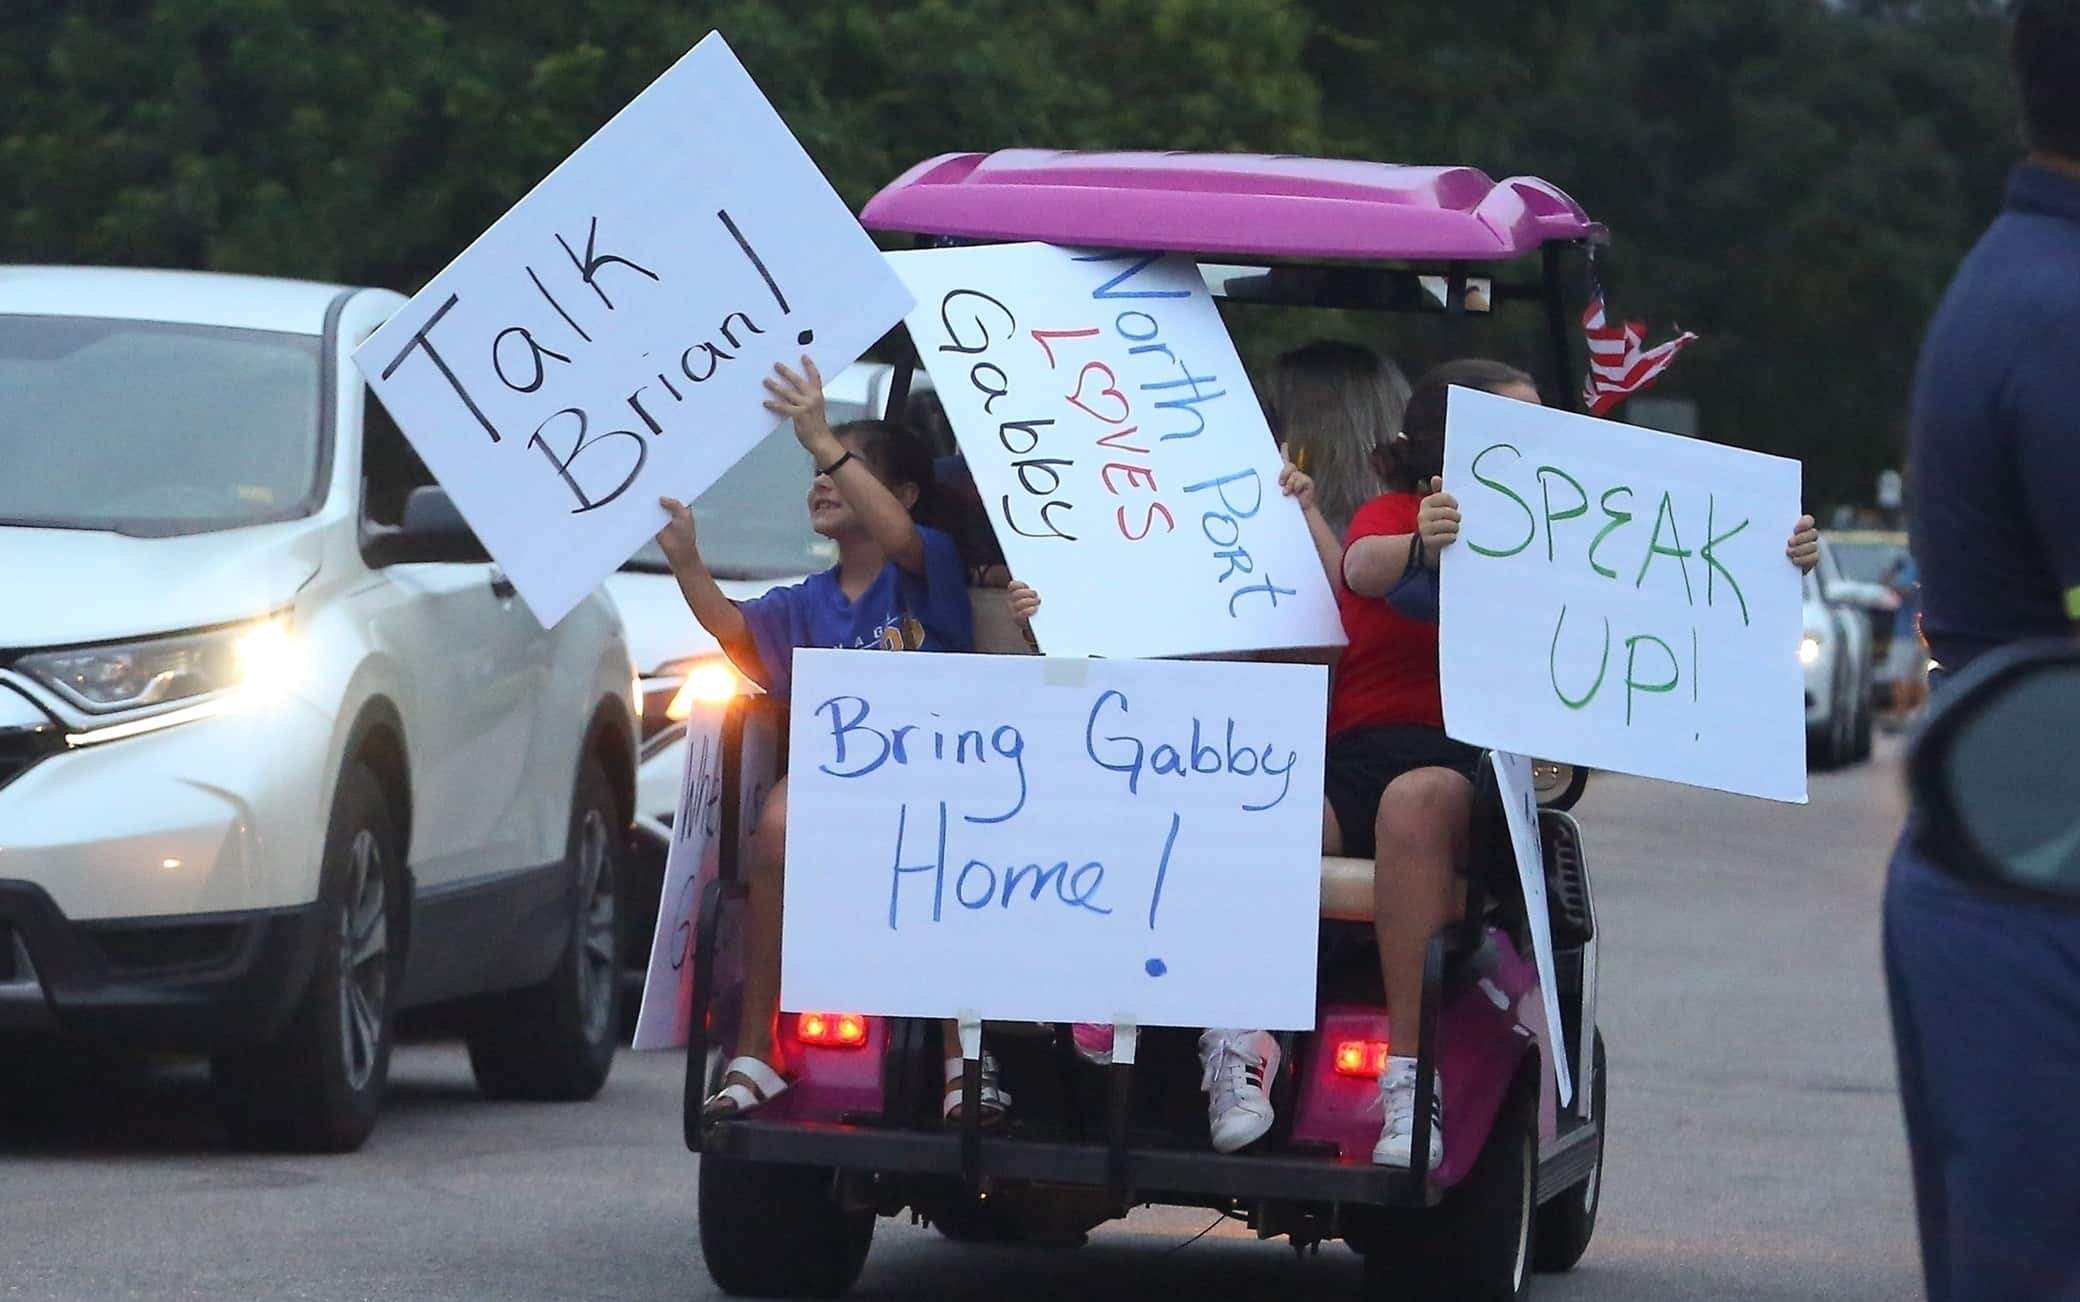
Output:
[[[874,1213],[838,1202],[828,1167],[701,1154],[701,1260],[738,1298],[836,1298],[874,1244]]]

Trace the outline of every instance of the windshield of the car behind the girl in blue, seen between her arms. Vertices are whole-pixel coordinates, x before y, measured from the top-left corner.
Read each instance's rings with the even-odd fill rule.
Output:
[[[859,420],[859,403],[826,399],[832,424]],[[792,578],[828,570],[838,545],[809,528],[809,453],[788,426],[776,428],[745,460],[728,468],[693,503],[701,559],[716,578]],[[666,572],[657,539],[628,557],[624,570]]]

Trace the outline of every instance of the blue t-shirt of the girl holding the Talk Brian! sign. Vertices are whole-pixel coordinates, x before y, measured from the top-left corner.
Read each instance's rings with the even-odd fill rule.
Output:
[[[847,601],[836,566],[738,605],[759,649],[759,686],[786,697],[795,647],[869,647],[876,651],[973,651],[976,616],[967,605],[967,574],[953,539],[936,528],[924,537],[924,574],[888,562],[859,601]]]

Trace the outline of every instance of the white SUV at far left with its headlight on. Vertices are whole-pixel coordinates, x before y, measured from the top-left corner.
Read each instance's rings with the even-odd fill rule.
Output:
[[[208,1050],[268,1146],[368,1136],[401,1009],[493,1096],[614,1059],[622,624],[543,630],[368,397],[401,304],[0,268],[0,1038]]]

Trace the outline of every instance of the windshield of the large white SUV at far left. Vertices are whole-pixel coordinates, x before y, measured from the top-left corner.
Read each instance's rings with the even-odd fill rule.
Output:
[[[164,537],[318,503],[318,337],[0,316],[0,524]]]

